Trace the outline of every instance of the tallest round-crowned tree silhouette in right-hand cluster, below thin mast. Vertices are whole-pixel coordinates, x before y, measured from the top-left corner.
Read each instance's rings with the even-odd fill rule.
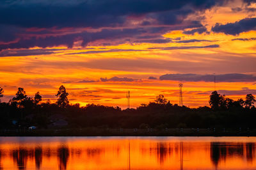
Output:
[[[225,96],[221,96],[217,91],[212,92],[209,100],[209,104],[212,110],[218,110],[219,108],[225,107],[226,101]]]

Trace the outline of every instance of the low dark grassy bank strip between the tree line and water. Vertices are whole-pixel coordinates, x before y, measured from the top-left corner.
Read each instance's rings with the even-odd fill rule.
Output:
[[[0,136],[256,136],[256,129],[35,129],[1,130]]]

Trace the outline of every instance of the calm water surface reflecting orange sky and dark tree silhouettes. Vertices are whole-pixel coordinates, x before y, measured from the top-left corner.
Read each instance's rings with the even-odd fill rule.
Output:
[[[0,169],[256,169],[256,138],[1,137]]]

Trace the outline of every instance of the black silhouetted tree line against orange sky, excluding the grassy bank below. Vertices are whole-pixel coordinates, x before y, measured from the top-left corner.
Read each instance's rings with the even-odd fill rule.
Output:
[[[0,99],[4,89],[0,87]],[[59,88],[56,103],[42,102],[40,92],[28,97],[19,87],[9,102],[0,100],[0,129],[27,128],[174,128],[174,127],[252,127],[255,128],[255,97],[247,94],[245,100],[234,101],[214,91],[209,96],[209,107],[189,108],[172,104],[163,94],[154,102],[121,110],[118,106],[70,104],[68,92]],[[62,122],[58,126],[58,121]],[[67,123],[67,124],[63,124]]]

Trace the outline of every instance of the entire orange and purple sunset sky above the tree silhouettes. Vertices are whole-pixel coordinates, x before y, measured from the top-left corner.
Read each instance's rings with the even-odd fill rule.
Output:
[[[18,87],[56,101],[126,108],[163,94],[208,106],[216,90],[256,96],[255,0],[3,0],[1,101]]]

